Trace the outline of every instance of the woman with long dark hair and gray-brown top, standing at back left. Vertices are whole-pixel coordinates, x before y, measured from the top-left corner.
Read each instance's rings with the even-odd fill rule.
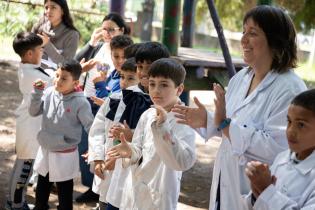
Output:
[[[44,8],[44,17],[32,31],[43,39],[43,60],[50,61],[44,64],[56,67],[56,64],[74,57],[80,35],[73,25],[67,1],[45,0]]]

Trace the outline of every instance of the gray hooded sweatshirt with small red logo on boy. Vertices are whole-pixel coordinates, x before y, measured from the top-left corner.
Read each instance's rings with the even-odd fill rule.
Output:
[[[37,140],[49,151],[76,147],[81,141],[82,126],[88,133],[94,118],[82,91],[62,95],[54,87],[47,88],[44,95],[42,90],[34,89],[29,113],[43,115]]]

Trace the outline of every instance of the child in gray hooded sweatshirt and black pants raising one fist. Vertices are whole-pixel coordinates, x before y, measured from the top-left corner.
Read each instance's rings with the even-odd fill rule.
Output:
[[[37,135],[39,150],[34,163],[38,172],[35,209],[48,209],[48,199],[53,182],[57,184],[58,209],[72,209],[73,178],[79,175],[77,146],[81,140],[82,126],[88,132],[93,123],[90,105],[77,91],[81,65],[70,60],[56,71],[54,87],[43,96],[44,82],[34,83],[29,112],[43,115],[41,130]]]

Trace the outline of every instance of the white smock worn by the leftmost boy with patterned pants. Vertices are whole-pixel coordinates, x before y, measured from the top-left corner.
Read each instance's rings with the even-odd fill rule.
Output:
[[[31,101],[33,83],[37,79],[47,81],[51,85],[52,77],[43,70],[37,69],[39,65],[20,63],[18,69],[19,90],[23,99],[19,107],[15,110],[16,116],[16,139],[15,148],[18,159],[35,159],[38,150],[36,140],[37,133],[40,130],[41,116],[32,117],[28,113],[28,107]]]

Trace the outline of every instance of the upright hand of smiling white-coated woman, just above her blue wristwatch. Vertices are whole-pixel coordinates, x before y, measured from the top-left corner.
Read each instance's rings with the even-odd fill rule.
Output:
[[[216,83],[213,83],[213,91],[216,96],[216,99],[214,99],[214,125],[219,127],[221,122],[226,118],[225,91],[219,84]]]

